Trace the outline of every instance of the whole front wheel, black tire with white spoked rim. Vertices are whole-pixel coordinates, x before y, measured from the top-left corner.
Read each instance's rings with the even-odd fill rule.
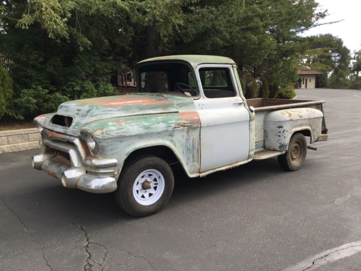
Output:
[[[158,156],[140,156],[126,163],[115,192],[119,206],[132,216],[158,212],[169,201],[174,176],[169,164]]]

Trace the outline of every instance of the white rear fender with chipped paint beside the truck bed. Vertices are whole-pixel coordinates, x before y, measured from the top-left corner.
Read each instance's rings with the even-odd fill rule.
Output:
[[[310,143],[321,135],[323,113],[315,108],[271,111],[264,118],[264,148],[286,151],[293,133],[308,130]]]

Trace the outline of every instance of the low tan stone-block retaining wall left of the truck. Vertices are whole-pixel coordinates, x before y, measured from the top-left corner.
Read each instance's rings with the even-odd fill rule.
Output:
[[[0,154],[39,149],[38,128],[0,131]]]

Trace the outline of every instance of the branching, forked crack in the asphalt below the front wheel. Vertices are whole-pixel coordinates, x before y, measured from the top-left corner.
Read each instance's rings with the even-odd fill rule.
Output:
[[[86,264],[84,265],[84,271],[91,270],[91,268],[93,267],[93,265],[94,265],[95,263],[96,263],[96,264],[99,264],[100,270],[103,270],[103,264],[105,263],[105,259],[106,259],[106,258],[109,258],[111,261],[113,261],[113,262],[114,262],[115,264],[117,264],[117,265],[126,266],[126,270],[128,270],[128,268],[129,268],[129,265],[128,265],[128,264],[126,264],[126,263],[125,263],[125,264],[124,264],[124,263],[118,263],[115,259],[109,257],[109,255],[108,255],[109,250],[108,250],[108,248],[107,248],[105,245],[102,245],[102,244],[99,244],[99,243],[96,243],[96,242],[91,242],[91,241],[90,241],[90,238],[89,238],[89,236],[88,236],[88,233],[87,233],[87,231],[86,231],[86,229],[85,229],[82,225],[75,224],[75,223],[73,223],[73,222],[71,222],[71,224],[79,227],[79,228],[81,229],[81,231],[84,233],[84,236],[85,236],[85,239],[86,239],[86,245],[84,246],[84,249],[85,249],[86,253],[88,254],[88,257],[87,257],[87,259],[86,259]],[[102,247],[105,249],[104,257],[103,257],[101,263],[96,262],[94,259],[92,259],[92,255],[91,255],[91,253],[90,253],[90,251],[89,251],[89,245],[90,245],[90,244],[102,246]],[[144,259],[145,261],[148,262],[149,266],[151,266],[152,269],[157,270],[155,267],[153,267],[151,261],[149,261],[149,260],[148,260],[147,258],[145,258],[144,256],[134,255],[133,253],[131,253],[131,252],[127,251],[127,250],[119,249],[119,248],[116,248],[116,247],[113,247],[113,246],[108,246],[108,247],[109,247],[109,248],[113,248],[113,249],[117,249],[117,250],[122,251],[122,252],[125,252],[125,253],[131,255],[131,256],[134,257],[134,258],[142,258],[142,259]]]

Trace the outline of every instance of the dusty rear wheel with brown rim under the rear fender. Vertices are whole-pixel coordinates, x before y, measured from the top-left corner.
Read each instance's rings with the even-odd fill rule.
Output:
[[[303,134],[296,133],[291,137],[288,143],[288,149],[285,154],[278,156],[279,165],[290,171],[296,171],[306,159],[307,141]]]

